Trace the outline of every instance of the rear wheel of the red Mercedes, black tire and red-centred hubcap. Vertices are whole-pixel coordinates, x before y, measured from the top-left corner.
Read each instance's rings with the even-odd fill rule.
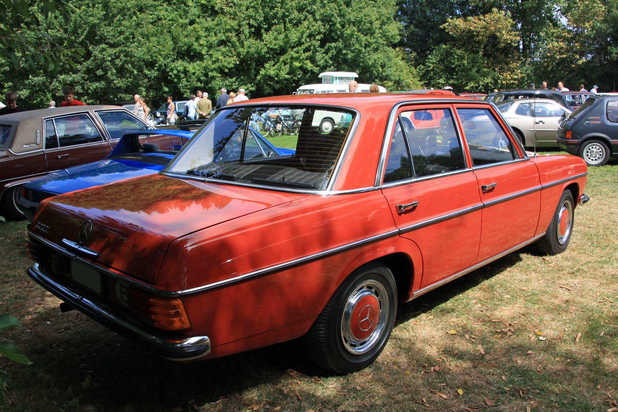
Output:
[[[315,363],[337,374],[360,371],[386,346],[396,311],[391,270],[363,265],[337,288],[305,335],[307,352]]]

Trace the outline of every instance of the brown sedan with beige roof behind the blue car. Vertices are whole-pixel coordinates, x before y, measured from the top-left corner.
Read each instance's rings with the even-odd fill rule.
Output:
[[[155,129],[118,106],[74,106],[0,116],[0,216],[25,219],[22,184],[56,170],[101,160],[125,132]],[[140,138],[172,150],[179,137]]]

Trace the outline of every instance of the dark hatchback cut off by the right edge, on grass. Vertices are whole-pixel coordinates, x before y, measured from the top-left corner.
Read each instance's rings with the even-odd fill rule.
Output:
[[[618,96],[589,97],[560,121],[557,140],[588,166],[603,166],[609,157],[618,157]]]

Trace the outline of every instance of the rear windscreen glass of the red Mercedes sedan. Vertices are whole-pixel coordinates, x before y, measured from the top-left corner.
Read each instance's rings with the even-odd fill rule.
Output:
[[[355,113],[323,106],[219,111],[165,170],[290,189],[328,186]]]

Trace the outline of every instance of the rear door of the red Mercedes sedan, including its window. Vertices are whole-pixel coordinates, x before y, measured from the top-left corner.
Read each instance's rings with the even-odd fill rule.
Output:
[[[400,236],[423,255],[422,288],[475,264],[480,195],[452,106],[402,109],[393,129],[382,191]]]

